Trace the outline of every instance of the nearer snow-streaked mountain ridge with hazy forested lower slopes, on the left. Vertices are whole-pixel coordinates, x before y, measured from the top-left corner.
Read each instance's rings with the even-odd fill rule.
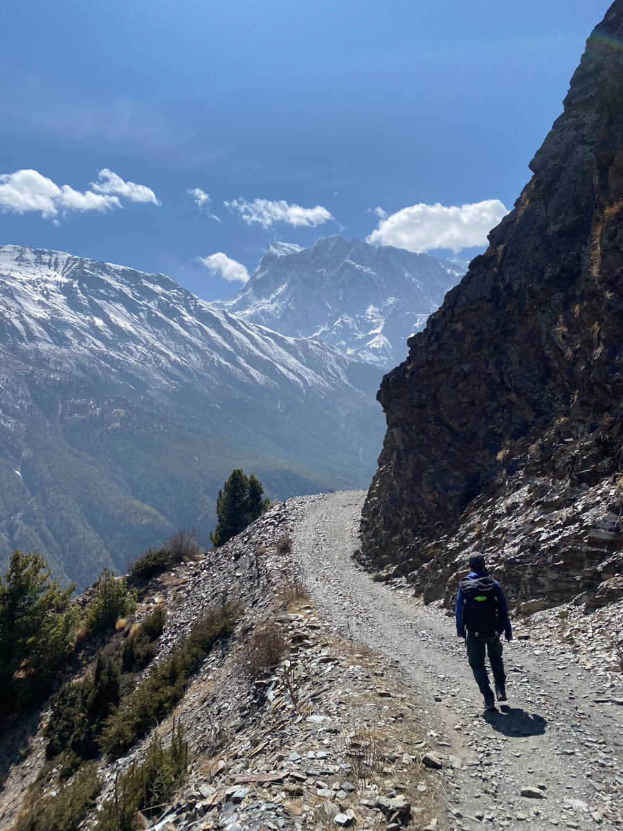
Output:
[[[119,567],[179,525],[205,534],[233,467],[272,496],[365,484],[378,381],[162,274],[0,247],[0,559],[38,548],[83,584],[85,548]]]

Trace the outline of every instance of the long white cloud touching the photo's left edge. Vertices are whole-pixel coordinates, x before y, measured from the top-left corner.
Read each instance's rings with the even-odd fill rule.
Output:
[[[102,170],[100,173],[108,173],[111,177],[116,177],[121,184],[129,187],[130,191],[145,187],[134,182],[124,182],[110,170]],[[149,191],[155,199],[152,190],[149,188],[145,190]],[[140,198],[134,198],[132,201],[154,201],[154,199],[145,199],[141,191],[136,191],[136,193],[140,194]],[[59,214],[65,215],[72,210],[96,210],[103,213],[113,208],[120,208],[120,196],[131,199],[128,192],[122,192],[121,189],[104,192],[93,186],[93,190],[81,191],[71,188],[68,184],[58,185],[37,170],[16,170],[15,173],[0,174],[0,210],[12,214],[36,212],[40,213],[43,219],[52,219],[53,222],[57,222]],[[155,204],[159,204],[157,199],[155,199]]]

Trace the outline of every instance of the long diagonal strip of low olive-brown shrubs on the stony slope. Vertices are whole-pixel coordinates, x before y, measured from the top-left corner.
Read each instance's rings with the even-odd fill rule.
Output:
[[[125,696],[106,720],[101,750],[117,758],[168,715],[184,695],[190,676],[218,640],[233,632],[241,614],[237,602],[209,610],[194,624],[189,636],[159,661],[135,690]]]

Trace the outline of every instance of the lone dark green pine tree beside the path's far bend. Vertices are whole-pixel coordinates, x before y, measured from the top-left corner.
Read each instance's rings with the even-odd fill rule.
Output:
[[[253,519],[264,513],[270,499],[262,499],[264,489],[255,474],[245,475],[241,468],[232,471],[229,479],[218,491],[216,515],[218,523],[210,534],[214,546],[223,545],[240,534]]]

